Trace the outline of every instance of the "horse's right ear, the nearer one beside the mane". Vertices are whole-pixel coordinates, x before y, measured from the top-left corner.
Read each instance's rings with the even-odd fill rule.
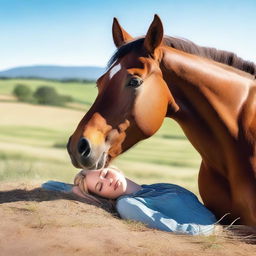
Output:
[[[144,40],[144,47],[150,54],[154,54],[155,49],[162,43],[164,36],[164,29],[162,21],[159,16],[155,14],[147,35]]]

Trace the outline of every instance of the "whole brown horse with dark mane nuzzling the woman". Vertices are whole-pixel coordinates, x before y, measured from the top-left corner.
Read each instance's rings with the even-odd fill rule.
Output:
[[[256,226],[256,67],[235,54],[163,36],[155,16],[145,37],[113,22],[118,47],[98,96],[70,137],[74,166],[102,168],[165,117],[202,157],[199,191],[217,217]]]

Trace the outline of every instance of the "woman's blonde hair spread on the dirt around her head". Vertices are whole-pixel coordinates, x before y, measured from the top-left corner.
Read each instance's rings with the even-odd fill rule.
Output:
[[[118,168],[115,166],[109,166],[108,168],[114,169],[116,171],[121,172]],[[97,203],[101,207],[105,208],[108,211],[113,212],[115,209],[115,200],[103,198],[99,195],[96,195],[88,190],[88,187],[86,186],[86,183],[84,180],[86,179],[86,175],[90,172],[90,170],[82,170],[80,171],[74,179],[74,185],[78,186],[83,196],[91,203]]]

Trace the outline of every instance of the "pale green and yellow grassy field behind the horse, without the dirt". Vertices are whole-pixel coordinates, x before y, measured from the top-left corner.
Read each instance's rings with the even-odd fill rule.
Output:
[[[25,79],[0,80],[0,94],[10,95],[19,83],[33,90],[41,85],[53,86],[60,94],[71,95],[85,110],[97,94],[95,84]],[[78,170],[71,165],[65,144],[84,113],[15,101],[0,102],[0,180],[72,182]],[[152,138],[114,162],[139,183],[177,183],[196,194],[199,163],[199,155],[170,119],[165,120]]]

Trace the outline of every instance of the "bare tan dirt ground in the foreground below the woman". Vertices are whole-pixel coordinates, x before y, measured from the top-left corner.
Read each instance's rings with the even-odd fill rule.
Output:
[[[105,208],[36,185],[2,183],[1,255],[256,255],[256,245],[225,232],[174,235],[121,220]]]

